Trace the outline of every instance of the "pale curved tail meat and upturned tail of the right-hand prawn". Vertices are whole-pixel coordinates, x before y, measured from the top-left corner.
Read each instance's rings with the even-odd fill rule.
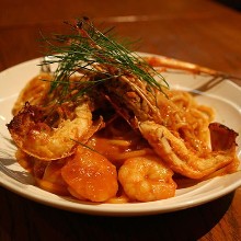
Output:
[[[237,134],[220,124],[210,124],[214,150],[197,151],[188,148],[184,140],[163,125],[153,122],[140,123],[139,129],[154,151],[163,158],[169,167],[184,176],[202,179],[231,163],[236,158]],[[217,140],[219,136],[219,141]],[[222,145],[226,139],[226,145]],[[219,146],[220,142],[220,146]]]

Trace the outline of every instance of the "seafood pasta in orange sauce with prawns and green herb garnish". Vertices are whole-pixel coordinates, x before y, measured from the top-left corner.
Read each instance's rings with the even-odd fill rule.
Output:
[[[77,34],[58,35],[65,45],[43,62],[57,69],[28,81],[7,125],[37,186],[95,203],[152,202],[173,197],[182,180],[238,169],[238,134],[191,93],[171,90],[157,59],[85,18],[71,26]]]

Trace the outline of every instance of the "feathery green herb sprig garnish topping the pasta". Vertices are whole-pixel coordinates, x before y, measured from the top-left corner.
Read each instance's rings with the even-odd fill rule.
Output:
[[[74,25],[65,23],[73,30],[73,34],[55,34],[54,37],[45,38],[49,47],[48,56],[54,58],[42,62],[42,65],[58,64],[50,91],[60,87],[62,99],[72,91],[70,78],[77,72],[82,73],[82,78],[95,74],[97,80],[78,82],[76,95],[82,95],[103,81],[126,74],[135,76],[160,91],[163,85],[168,87],[164,78],[137,53],[130,51],[113,38],[111,35],[113,28],[101,32],[88,18],[78,20]],[[112,71],[108,71],[110,69]],[[162,82],[157,81],[153,76]]]

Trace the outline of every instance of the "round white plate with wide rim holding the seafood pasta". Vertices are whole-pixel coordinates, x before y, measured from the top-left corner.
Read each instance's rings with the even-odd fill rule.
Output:
[[[12,118],[11,108],[24,84],[38,73],[39,59],[23,62],[0,73],[0,184],[21,196],[53,207],[77,213],[108,216],[151,215],[197,206],[221,197],[241,185],[241,172],[215,177],[196,185],[180,188],[172,198],[137,204],[90,204],[45,192],[33,185],[32,177],[14,159],[5,124]],[[164,73],[168,82],[177,89],[194,90],[207,85],[210,78],[187,73]],[[200,103],[213,106],[216,120],[239,133],[238,156],[241,159],[241,88],[229,80],[214,84],[197,95]],[[239,170],[241,167],[239,167]]]

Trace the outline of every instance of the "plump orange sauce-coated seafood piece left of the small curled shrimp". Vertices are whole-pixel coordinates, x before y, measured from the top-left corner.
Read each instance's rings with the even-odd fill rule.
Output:
[[[118,190],[117,171],[104,156],[78,146],[61,169],[68,190],[78,199],[106,202]]]

